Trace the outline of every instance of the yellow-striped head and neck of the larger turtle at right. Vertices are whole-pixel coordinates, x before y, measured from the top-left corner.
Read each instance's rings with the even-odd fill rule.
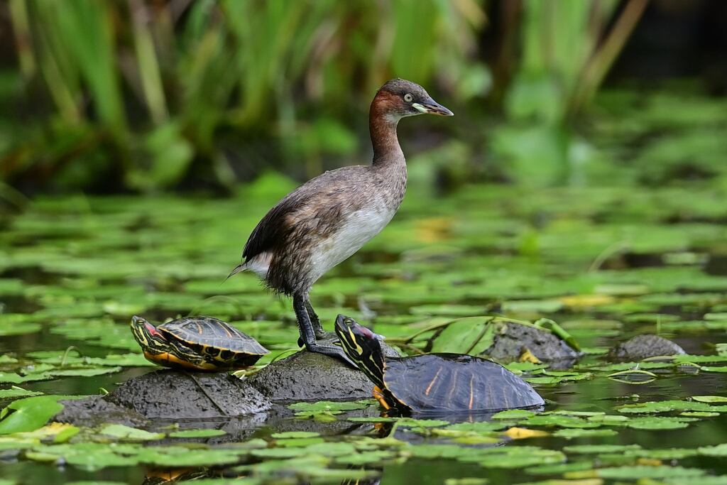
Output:
[[[346,355],[364,371],[374,384],[382,387],[384,381],[384,353],[379,334],[371,332],[356,320],[345,315],[336,318],[336,334]]]

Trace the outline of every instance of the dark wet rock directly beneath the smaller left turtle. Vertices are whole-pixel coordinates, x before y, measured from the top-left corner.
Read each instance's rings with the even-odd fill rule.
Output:
[[[147,418],[166,419],[240,416],[271,406],[247,382],[224,372],[149,372],[124,382],[105,399]]]

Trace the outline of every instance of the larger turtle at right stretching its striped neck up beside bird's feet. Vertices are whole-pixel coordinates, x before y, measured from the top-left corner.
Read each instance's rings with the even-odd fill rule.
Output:
[[[545,404],[527,382],[484,358],[459,353],[384,357],[379,337],[347,316],[336,318],[345,353],[374,382],[374,397],[403,412],[473,412]]]

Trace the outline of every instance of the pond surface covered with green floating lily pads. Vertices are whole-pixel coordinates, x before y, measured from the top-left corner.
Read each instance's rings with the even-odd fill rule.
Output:
[[[103,393],[154,369],[129,332],[134,314],[230,321],[272,350],[261,365],[296,348],[288,300],[251,275],[222,283],[249,231],[289,188],[268,176],[230,199],[39,199],[7,217],[2,402],[25,391]],[[360,410],[313,409],[236,441],[204,433],[175,441],[165,436],[172,428],[159,441],[158,430],[42,423],[12,433],[14,414],[45,412],[45,404],[17,406],[0,421],[0,484],[156,483],[179,468],[198,484],[727,484],[724,196],[703,186],[412,190],[393,223],[314,288],[326,327],[344,313],[393,342],[467,316],[552,318],[587,355],[564,371],[511,364],[547,398],[545,413],[377,420],[370,401],[359,406],[363,420]],[[606,361],[614,342],[642,333],[688,355]],[[611,375],[634,369],[651,375]]]

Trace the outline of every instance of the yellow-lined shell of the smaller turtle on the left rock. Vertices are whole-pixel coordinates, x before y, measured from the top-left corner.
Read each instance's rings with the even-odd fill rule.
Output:
[[[156,329],[169,340],[177,340],[203,354],[223,363],[252,361],[269,353],[257,340],[222,320],[209,316],[188,316],[177,318]],[[252,365],[248,364],[248,365]]]

